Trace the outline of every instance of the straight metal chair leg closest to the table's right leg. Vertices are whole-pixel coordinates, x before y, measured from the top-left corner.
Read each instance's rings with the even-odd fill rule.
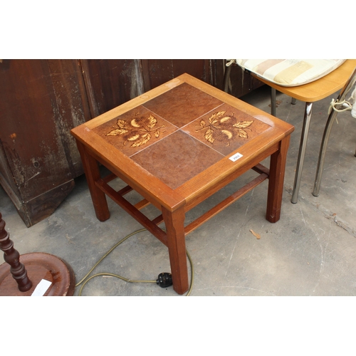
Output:
[[[300,188],[300,180],[302,178],[305,148],[307,146],[307,141],[308,141],[308,132],[310,126],[310,117],[312,114],[312,107],[313,107],[313,103],[305,103],[304,121],[303,121],[302,135],[300,137],[297,168],[295,169],[293,194],[292,194],[292,199],[290,200],[293,204],[295,204],[298,201],[298,193]]]

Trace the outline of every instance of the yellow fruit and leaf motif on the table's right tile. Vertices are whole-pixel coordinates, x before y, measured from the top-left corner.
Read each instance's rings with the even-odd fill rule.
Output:
[[[248,133],[245,129],[252,125],[253,120],[238,121],[237,118],[234,117],[234,113],[226,115],[226,111],[218,111],[209,117],[208,122],[209,125],[206,126],[206,122],[200,120],[199,125],[201,128],[197,131],[206,129],[204,138],[210,142],[211,145],[215,141],[218,141],[225,142],[226,146],[229,146],[230,141],[233,140],[234,137],[248,138]]]

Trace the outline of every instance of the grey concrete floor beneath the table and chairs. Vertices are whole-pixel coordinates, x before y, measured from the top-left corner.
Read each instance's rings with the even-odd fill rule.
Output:
[[[269,93],[269,88],[263,87],[242,99],[270,112]],[[338,115],[325,159],[320,196],[311,194],[328,105],[336,97],[333,95],[313,107],[299,200],[298,204],[291,204],[304,103],[291,105],[286,95],[277,95],[281,102],[277,116],[295,125],[288,152],[281,220],[271,224],[265,219],[268,182],[263,182],[189,234],[187,250],[194,266],[192,296],[356,294],[356,122],[350,112]],[[238,189],[249,174],[189,212],[187,221]],[[132,199],[137,199],[135,194]],[[85,177],[79,177],[73,192],[52,216],[26,228],[0,187],[0,211],[15,248],[21,254],[47,252],[63,258],[73,268],[77,283],[112,246],[141,229],[140,224],[108,200],[111,217],[100,222],[95,218]],[[155,208],[146,209],[148,216],[155,216]],[[251,229],[261,239],[256,239]],[[167,248],[144,231],[115,248],[93,273],[155,281],[159,273],[169,271]],[[79,289],[80,286],[75,289],[75,295]],[[177,296],[177,293],[172,287],[160,288],[155,283],[127,283],[99,276],[85,285],[82,295]]]

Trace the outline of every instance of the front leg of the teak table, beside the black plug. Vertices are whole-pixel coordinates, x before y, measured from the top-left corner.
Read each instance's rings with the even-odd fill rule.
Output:
[[[171,263],[173,289],[178,294],[183,294],[189,288],[184,234],[184,206],[175,211],[168,211],[162,206],[162,215],[167,230],[167,246]]]

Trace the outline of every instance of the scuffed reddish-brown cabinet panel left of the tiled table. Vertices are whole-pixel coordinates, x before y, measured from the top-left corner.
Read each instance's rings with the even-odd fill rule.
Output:
[[[0,183],[27,226],[63,201],[83,173],[70,129],[90,119],[80,63],[0,63]]]

